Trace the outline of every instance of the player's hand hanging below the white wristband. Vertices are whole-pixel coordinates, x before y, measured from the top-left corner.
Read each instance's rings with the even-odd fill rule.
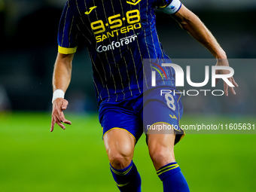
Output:
[[[50,132],[53,132],[55,123],[57,123],[63,130],[66,127],[62,123],[71,125],[71,121],[66,120],[63,111],[68,107],[69,102],[66,99],[58,98],[53,102],[53,112],[51,115]]]

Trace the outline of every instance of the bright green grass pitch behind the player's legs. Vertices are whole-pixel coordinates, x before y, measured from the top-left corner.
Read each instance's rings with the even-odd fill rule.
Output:
[[[97,115],[66,114],[67,130],[50,133],[50,114],[0,114],[0,191],[117,192]],[[210,119],[213,117],[210,117]],[[255,123],[254,117],[240,117]],[[206,122],[200,116],[181,123]],[[209,119],[208,119],[209,120]],[[237,117],[215,117],[236,122]],[[192,135],[175,146],[175,157],[191,191],[255,191],[256,135]],[[163,191],[148,155],[145,136],[134,162],[142,191]]]

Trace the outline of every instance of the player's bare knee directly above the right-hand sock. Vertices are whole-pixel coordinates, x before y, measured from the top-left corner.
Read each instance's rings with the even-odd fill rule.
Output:
[[[160,169],[160,167],[168,163],[175,162],[174,153],[169,148],[157,147],[149,150],[149,154],[156,169]]]

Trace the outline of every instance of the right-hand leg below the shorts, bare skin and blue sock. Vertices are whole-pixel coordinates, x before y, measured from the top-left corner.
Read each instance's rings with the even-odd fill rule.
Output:
[[[158,123],[157,125],[163,124]],[[187,181],[178,163],[175,162],[174,142],[175,134],[173,130],[168,130],[168,133],[150,130],[148,133],[148,151],[157,170],[157,175],[163,181],[163,191],[188,192]]]

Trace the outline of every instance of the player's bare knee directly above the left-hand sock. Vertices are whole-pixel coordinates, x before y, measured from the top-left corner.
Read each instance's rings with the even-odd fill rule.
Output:
[[[108,159],[114,169],[124,169],[133,160],[133,150],[130,148],[122,148],[121,150],[112,148],[108,151]]]

